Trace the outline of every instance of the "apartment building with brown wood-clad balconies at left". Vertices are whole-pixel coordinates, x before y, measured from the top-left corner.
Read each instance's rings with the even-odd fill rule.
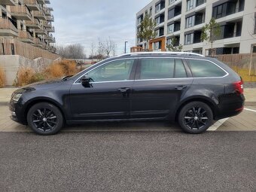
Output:
[[[49,0],[0,0],[0,55],[16,54],[22,48],[15,47],[17,41],[56,52],[49,4]]]

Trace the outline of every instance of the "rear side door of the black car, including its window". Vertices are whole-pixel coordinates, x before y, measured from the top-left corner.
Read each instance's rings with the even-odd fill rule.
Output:
[[[131,97],[131,118],[164,118],[175,111],[193,79],[182,59],[141,58]]]

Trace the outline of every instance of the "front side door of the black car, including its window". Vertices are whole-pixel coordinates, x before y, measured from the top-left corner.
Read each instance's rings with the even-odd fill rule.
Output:
[[[90,78],[90,87],[78,80],[70,90],[73,120],[129,118],[135,70],[136,59],[117,59],[84,74]]]

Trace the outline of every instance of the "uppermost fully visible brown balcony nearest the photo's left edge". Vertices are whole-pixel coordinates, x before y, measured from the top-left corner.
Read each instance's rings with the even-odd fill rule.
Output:
[[[32,20],[32,16],[25,5],[10,6],[11,16],[17,20]]]

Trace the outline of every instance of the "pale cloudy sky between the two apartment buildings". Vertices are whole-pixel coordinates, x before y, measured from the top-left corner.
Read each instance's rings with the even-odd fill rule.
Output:
[[[117,55],[136,45],[136,13],[151,0],[51,0],[56,45],[82,44],[87,56],[91,44],[111,38]]]

